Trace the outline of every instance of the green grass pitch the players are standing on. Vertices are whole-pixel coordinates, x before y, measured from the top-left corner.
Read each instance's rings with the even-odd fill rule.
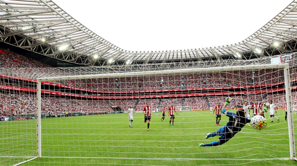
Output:
[[[209,111],[178,112],[176,126],[169,126],[168,116],[161,121],[162,112],[153,113],[149,131],[143,113],[134,115],[130,128],[127,113],[46,118],[42,119],[42,157],[23,165],[297,165],[287,159],[284,111],[276,113],[280,123],[271,123],[268,116],[266,113],[266,129],[246,125],[216,147],[198,147],[199,143],[217,141],[218,137],[206,140],[205,136],[228,120],[222,115],[221,126],[216,126],[215,115]],[[36,156],[35,127],[34,119],[0,123],[0,165]]]

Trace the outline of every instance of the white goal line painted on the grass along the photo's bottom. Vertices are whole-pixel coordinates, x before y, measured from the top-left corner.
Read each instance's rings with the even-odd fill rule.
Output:
[[[8,158],[32,158],[34,156],[0,156]],[[222,159],[203,159],[203,158],[141,158],[141,157],[72,157],[72,156],[41,156],[41,158],[65,158],[65,159],[140,159],[140,160],[246,160],[246,161],[263,161],[263,160],[289,160],[290,158],[265,158],[265,159],[236,159],[236,158],[222,158]]]

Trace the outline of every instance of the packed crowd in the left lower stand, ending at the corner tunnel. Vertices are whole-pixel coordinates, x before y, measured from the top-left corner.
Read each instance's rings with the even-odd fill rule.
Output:
[[[60,96],[42,96],[42,113],[65,112],[113,112],[107,101],[84,100]],[[0,93],[1,115],[9,114],[36,114],[36,95]]]

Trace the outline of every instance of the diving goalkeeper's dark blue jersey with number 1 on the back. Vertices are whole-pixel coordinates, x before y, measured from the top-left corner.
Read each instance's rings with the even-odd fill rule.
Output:
[[[229,121],[227,122],[226,127],[228,127],[228,130],[233,134],[240,132],[245,124],[251,122],[250,118],[239,117],[236,115],[236,113],[233,112],[222,110],[222,113],[229,117]]]

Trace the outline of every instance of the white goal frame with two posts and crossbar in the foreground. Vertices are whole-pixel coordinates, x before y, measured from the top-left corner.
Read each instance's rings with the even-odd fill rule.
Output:
[[[208,67],[208,68],[189,68],[189,69],[172,69],[172,70],[155,70],[155,71],[140,71],[140,72],[119,72],[119,73],[106,73],[94,75],[75,75],[75,76],[62,76],[62,77],[46,77],[37,78],[37,157],[42,157],[42,133],[41,133],[41,82],[54,81],[54,80],[74,80],[74,79],[92,79],[92,78],[109,78],[109,77],[131,77],[138,75],[160,75],[160,74],[182,74],[182,73],[200,73],[200,72],[220,72],[220,71],[233,71],[233,70],[250,70],[250,69],[273,69],[283,68],[285,78],[285,95],[288,112],[288,130],[289,130],[289,145],[290,145],[290,159],[296,160],[296,147],[295,137],[293,130],[293,110],[291,102],[291,86],[290,86],[290,72],[289,64],[255,64],[246,66],[231,66],[231,67]],[[31,159],[30,159],[31,160]],[[27,160],[25,162],[28,162]],[[24,163],[24,162],[23,162]]]

